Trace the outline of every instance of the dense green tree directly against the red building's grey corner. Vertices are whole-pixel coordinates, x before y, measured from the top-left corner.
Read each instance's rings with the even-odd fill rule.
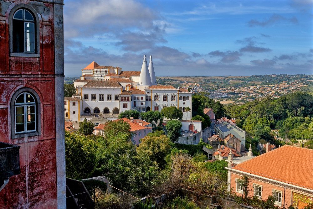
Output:
[[[66,177],[73,179],[89,178],[96,164],[95,141],[65,131]]]

